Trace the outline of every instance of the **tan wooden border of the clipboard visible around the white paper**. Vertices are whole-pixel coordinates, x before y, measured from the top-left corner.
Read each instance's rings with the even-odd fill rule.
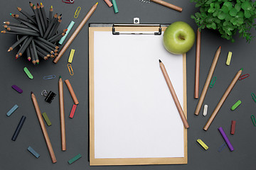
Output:
[[[166,27],[163,27],[164,31]],[[156,31],[152,27],[124,27],[119,31]],[[146,164],[188,164],[188,139],[187,129],[183,128],[184,135],[184,157],[164,157],[164,158],[105,158],[95,159],[95,118],[94,118],[94,31],[112,31],[112,27],[89,27],[89,152],[90,166],[102,165],[146,165]],[[117,35],[122,36],[122,35]],[[152,35],[158,36],[158,35]],[[183,54],[183,112],[187,118],[186,99],[186,54]]]

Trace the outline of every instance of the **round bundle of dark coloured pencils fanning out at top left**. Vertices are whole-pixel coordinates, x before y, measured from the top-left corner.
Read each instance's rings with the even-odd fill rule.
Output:
[[[58,56],[59,47],[55,45],[62,38],[67,30],[63,30],[61,33],[56,33],[61,23],[61,14],[57,13],[53,16],[53,6],[50,7],[49,16],[47,18],[46,11],[43,4],[34,5],[29,2],[33,11],[33,16],[28,14],[23,9],[18,8],[18,11],[23,14],[10,13],[10,15],[18,21],[13,23],[4,22],[4,28],[1,33],[17,35],[18,41],[11,45],[8,52],[14,50],[15,47],[20,45],[20,49],[16,54],[16,59],[21,57],[26,51],[28,61],[32,61],[33,64],[39,64],[39,58],[48,60],[48,57],[54,58]]]

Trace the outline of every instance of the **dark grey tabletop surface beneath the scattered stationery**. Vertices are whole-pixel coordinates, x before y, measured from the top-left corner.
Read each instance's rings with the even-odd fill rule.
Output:
[[[141,23],[173,23],[174,21],[185,21],[196,31],[196,24],[190,18],[191,14],[198,11],[194,4],[188,0],[171,1],[166,0],[176,6],[183,8],[182,13],[160,6],[159,4],[144,4],[139,0],[117,0],[119,13],[115,14],[113,8],[109,8],[103,0],[88,23],[132,23],[134,17],[139,17]],[[32,1],[36,4],[36,1]],[[70,21],[75,21],[73,30],[82,21],[87,11],[97,1],[78,1],[74,4],[64,4],[62,1],[42,1],[46,11],[53,5],[54,12],[63,14],[63,21],[58,30],[63,30]],[[16,7],[32,14],[28,6],[28,1],[9,0],[2,1],[0,6],[0,21],[14,21],[9,13],[18,13]],[[82,10],[78,18],[74,18],[75,10],[81,6]],[[200,72],[200,93],[206,81],[210,64],[215,55],[215,51],[221,46],[221,54],[218,60],[213,77],[217,77],[213,89],[208,89],[203,104],[208,104],[208,115],[203,117],[194,115],[198,100],[193,98],[194,70],[196,46],[187,53],[187,100],[188,100],[188,164],[184,165],[150,165],[150,166],[89,166],[88,162],[88,23],[75,38],[65,55],[58,64],[52,60],[41,61],[33,66],[25,57],[15,60],[17,49],[7,52],[9,47],[16,41],[15,35],[0,34],[1,52],[1,115],[0,115],[0,169],[255,169],[255,131],[250,115],[255,114],[256,103],[250,94],[255,92],[255,41],[247,44],[245,40],[235,37],[235,42],[223,40],[220,35],[213,30],[203,30],[201,38],[201,72]],[[73,33],[73,30],[71,33]],[[69,34],[69,36],[71,35]],[[252,31],[255,35],[255,30]],[[68,37],[69,37],[68,36]],[[146,45],[146,44],[142,44]],[[74,75],[71,77],[68,68],[68,56],[70,49],[75,49],[75,57],[72,62]],[[233,52],[230,66],[225,65],[228,51]],[[23,67],[33,74],[34,79],[28,79],[23,72]],[[220,97],[230,84],[234,75],[243,67],[242,74],[250,74],[250,77],[238,81],[230,96],[228,96],[217,117],[213,121],[209,130],[205,132],[203,125],[217,105]],[[55,74],[55,79],[44,80],[43,76]],[[68,118],[73,106],[73,100],[68,88],[64,84],[65,95],[65,123],[67,136],[67,150],[61,151],[60,147],[60,116],[58,102],[58,76],[69,79],[76,92],[80,104],[73,119]],[[18,94],[11,89],[16,84],[23,89],[23,94]],[[52,103],[44,101],[41,91],[53,91],[57,96]],[[41,112],[46,112],[53,125],[47,127],[50,140],[55,151],[57,163],[52,164],[46,142],[43,138],[38,118],[36,116],[33,103],[31,101],[31,91],[36,94]],[[230,111],[230,107],[240,99],[242,104],[235,110]],[[15,104],[19,108],[10,116],[6,113]],[[22,115],[26,115],[26,121],[18,135],[17,140],[11,140],[14,130]],[[235,135],[230,135],[231,120],[236,120]],[[218,132],[222,126],[228,135],[235,150],[230,152],[225,147],[222,152],[218,152],[218,147],[224,143],[223,137]],[[205,151],[196,140],[200,138],[206,142],[209,149]],[[175,140],[175,139],[174,139]],[[36,159],[26,149],[33,147],[41,156]],[[77,154],[82,154],[82,158],[73,164],[68,164],[68,160]]]

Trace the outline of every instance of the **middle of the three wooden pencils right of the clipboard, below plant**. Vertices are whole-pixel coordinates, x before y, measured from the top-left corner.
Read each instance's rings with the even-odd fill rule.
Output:
[[[204,98],[206,97],[206,93],[207,93],[207,90],[208,90],[208,87],[209,87],[209,84],[210,84],[210,79],[213,77],[213,72],[215,70],[215,67],[216,67],[216,64],[218,62],[218,58],[220,57],[220,49],[221,47],[218,48],[218,50],[215,52],[215,56],[213,58],[213,62],[210,66],[210,70],[208,72],[208,76],[207,76],[207,79],[206,79],[206,83],[205,85],[203,86],[203,91],[201,93],[201,96],[199,98],[199,101],[198,101],[198,104],[196,106],[196,111],[195,111],[195,115],[198,115],[200,110],[201,110],[201,107],[203,105],[203,100]]]

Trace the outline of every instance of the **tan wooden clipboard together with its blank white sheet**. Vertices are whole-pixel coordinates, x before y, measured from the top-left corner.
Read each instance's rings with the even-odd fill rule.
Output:
[[[187,130],[158,59],[156,64],[153,59],[156,54],[164,57],[187,117],[186,54],[171,55],[164,49],[161,38],[167,26],[90,23],[90,166],[187,164]]]

